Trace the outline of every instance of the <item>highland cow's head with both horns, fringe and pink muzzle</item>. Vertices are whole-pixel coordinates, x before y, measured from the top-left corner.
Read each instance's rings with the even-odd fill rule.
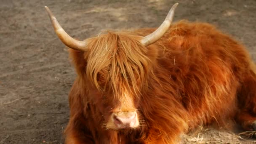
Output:
[[[84,83],[90,90],[88,96],[99,106],[109,129],[137,128],[139,126],[139,100],[143,88],[147,88],[152,60],[156,59],[154,47],[150,47],[164,35],[173,19],[173,5],[160,27],[145,37],[125,32],[107,32],[84,41],[70,37],[55,16],[45,6],[60,40],[83,53]]]

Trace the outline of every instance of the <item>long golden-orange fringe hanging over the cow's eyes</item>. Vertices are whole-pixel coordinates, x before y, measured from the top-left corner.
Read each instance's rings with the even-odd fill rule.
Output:
[[[138,95],[142,87],[147,87],[150,60],[140,40],[140,36],[109,31],[91,38],[86,75],[96,88],[112,90],[114,95],[123,91],[120,88],[128,88]]]

